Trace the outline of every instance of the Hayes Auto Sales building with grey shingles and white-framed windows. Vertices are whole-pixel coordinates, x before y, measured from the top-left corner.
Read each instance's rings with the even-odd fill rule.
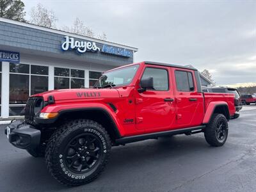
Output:
[[[135,47],[0,18],[0,119],[20,115],[29,95],[88,88],[134,60]],[[204,86],[211,84],[204,76]],[[208,81],[208,82],[207,82]]]

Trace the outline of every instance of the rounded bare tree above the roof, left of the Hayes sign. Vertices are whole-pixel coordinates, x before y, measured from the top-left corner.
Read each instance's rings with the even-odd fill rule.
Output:
[[[42,4],[38,3],[31,8],[29,22],[46,28],[56,28],[57,17],[52,10],[47,10]]]

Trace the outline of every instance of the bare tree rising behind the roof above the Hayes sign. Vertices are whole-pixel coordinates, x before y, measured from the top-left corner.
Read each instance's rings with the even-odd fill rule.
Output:
[[[89,37],[95,37],[95,33],[93,32],[92,28],[85,26],[84,22],[80,20],[78,17],[74,20],[74,23],[72,26],[63,26],[63,31],[67,31],[69,33],[75,33],[77,35],[83,35],[83,36],[89,36]],[[99,38],[101,40],[106,40],[107,35],[106,33],[102,33],[102,35],[97,35],[96,38]]]

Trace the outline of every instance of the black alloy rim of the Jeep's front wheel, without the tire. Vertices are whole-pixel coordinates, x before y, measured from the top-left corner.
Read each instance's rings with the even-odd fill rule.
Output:
[[[65,149],[65,162],[75,173],[86,173],[99,162],[100,140],[95,135],[83,133],[73,138]]]

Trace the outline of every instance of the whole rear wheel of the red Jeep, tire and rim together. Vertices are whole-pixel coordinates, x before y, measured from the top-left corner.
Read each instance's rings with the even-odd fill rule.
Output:
[[[213,147],[224,145],[228,138],[227,118],[222,114],[214,113],[205,127],[204,136],[207,143]]]

